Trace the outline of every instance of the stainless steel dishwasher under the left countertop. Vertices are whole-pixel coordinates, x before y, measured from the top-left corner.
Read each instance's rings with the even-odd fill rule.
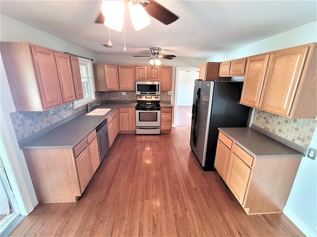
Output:
[[[102,123],[100,123],[96,127],[96,132],[97,132],[98,147],[99,147],[99,158],[100,158],[100,162],[102,162],[109,150],[107,119],[105,119]]]

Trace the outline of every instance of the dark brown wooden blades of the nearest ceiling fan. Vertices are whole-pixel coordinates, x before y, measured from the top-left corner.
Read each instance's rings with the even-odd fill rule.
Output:
[[[178,16],[176,16],[171,11],[167,10],[165,7],[160,5],[155,0],[137,0],[137,1],[144,7],[148,15],[156,18],[157,20],[159,20],[165,25],[173,23],[179,18]],[[129,2],[129,0],[124,0],[124,2]],[[103,15],[102,11],[100,11],[97,19],[95,20],[95,23],[104,24],[104,22],[105,22],[105,16]]]

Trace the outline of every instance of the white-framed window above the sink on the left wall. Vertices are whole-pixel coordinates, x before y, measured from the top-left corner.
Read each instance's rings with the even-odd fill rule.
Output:
[[[91,60],[86,58],[78,58],[81,82],[83,84],[84,98],[75,101],[74,108],[78,108],[96,100],[92,62]]]

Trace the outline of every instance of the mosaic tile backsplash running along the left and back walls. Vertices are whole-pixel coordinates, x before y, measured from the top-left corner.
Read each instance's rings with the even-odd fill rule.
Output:
[[[136,101],[137,97],[135,91],[126,91],[126,95],[121,95],[121,91],[111,92],[96,92],[97,100],[95,103],[100,103],[104,100],[128,100]],[[161,101],[170,101],[170,95],[167,91],[162,91],[160,96]],[[67,105],[56,107],[56,114],[50,115],[50,111],[44,112],[20,112],[16,111],[10,113],[10,118],[15,131],[17,141],[20,141],[32,134],[39,132],[40,130],[53,125],[54,123],[72,116],[82,110],[87,111],[87,105],[79,108],[69,109]]]

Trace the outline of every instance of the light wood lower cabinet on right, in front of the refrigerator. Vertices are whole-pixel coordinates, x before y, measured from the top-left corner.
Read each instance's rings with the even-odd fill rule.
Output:
[[[219,132],[214,166],[248,215],[267,214],[283,211],[300,161],[300,157],[254,158]]]

